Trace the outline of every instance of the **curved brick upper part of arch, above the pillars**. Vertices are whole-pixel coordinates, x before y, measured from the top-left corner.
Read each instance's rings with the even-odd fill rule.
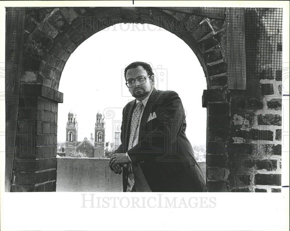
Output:
[[[77,46],[98,31],[124,22],[149,23],[172,32],[196,54],[208,89],[227,83],[224,21],[150,7],[32,8],[27,14],[24,82],[58,90],[61,72]]]

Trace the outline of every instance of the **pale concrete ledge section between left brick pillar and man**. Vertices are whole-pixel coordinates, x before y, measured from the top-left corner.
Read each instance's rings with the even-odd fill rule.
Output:
[[[108,158],[57,157],[56,192],[123,192]]]

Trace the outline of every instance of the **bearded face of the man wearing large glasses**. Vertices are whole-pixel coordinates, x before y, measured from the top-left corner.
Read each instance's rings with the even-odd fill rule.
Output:
[[[139,77],[146,77],[146,83],[139,84],[135,81],[135,84],[132,88],[128,88],[129,92],[135,97],[137,100],[143,100],[150,93],[152,88],[154,88],[154,77],[147,77],[148,74],[146,70],[142,66],[137,66],[136,68],[129,69],[126,73],[127,81],[129,79],[136,79]],[[153,79],[153,81],[152,81]]]

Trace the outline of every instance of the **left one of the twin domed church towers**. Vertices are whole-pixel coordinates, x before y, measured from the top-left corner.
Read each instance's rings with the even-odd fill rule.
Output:
[[[66,123],[66,156],[76,150],[77,147],[77,114],[70,110]]]

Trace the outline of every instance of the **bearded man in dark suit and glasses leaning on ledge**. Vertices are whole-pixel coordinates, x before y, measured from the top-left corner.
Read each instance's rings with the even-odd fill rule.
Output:
[[[147,63],[131,63],[124,74],[136,100],[123,109],[122,144],[110,158],[110,168],[116,174],[123,168],[123,191],[206,192],[185,135],[185,114],[178,94],[156,90]]]

